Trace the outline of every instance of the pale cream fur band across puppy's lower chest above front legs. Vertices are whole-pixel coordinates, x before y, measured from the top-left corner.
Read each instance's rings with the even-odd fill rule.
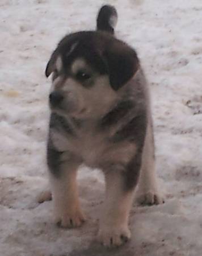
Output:
[[[136,154],[136,144],[127,141],[111,143],[106,133],[83,130],[78,136],[69,137],[54,131],[51,137],[57,150],[71,152],[93,168],[105,168],[114,164],[125,166]]]

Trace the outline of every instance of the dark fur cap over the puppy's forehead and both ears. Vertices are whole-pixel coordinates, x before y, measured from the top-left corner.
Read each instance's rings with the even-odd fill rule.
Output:
[[[71,52],[74,44],[75,48]],[[100,74],[108,73],[114,90],[123,86],[138,70],[136,52],[106,32],[82,31],[65,36],[50,57],[46,76],[55,70],[58,55],[62,57],[65,73],[75,59],[83,58]]]

